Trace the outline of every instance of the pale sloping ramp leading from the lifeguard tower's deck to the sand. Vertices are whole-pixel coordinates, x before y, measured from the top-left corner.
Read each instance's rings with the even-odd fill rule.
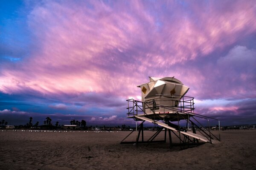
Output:
[[[210,142],[209,139],[207,139],[205,136],[201,136],[201,135],[198,135],[196,133],[192,133],[192,132],[183,132],[183,131],[179,131],[179,130],[176,130],[174,127],[170,127],[169,125],[166,125],[165,123],[163,122],[154,122],[152,119],[148,119],[144,116],[135,116],[137,119],[141,119],[141,120],[145,120],[147,122],[151,122],[151,123],[156,123],[157,125],[160,125],[162,127],[165,127],[167,129],[170,129],[172,131],[175,131],[175,132],[180,132],[182,133],[183,135],[187,135],[187,136],[191,136],[192,138],[195,138],[195,139],[200,139],[201,141],[204,141],[204,142]]]

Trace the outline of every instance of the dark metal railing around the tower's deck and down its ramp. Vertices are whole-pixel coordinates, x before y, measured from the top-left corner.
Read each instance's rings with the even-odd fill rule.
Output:
[[[165,95],[165,96],[170,96],[169,99],[160,99],[160,95],[155,95],[153,96],[153,99],[150,99],[148,101],[145,102],[141,102],[141,101],[137,101],[134,99],[128,99],[126,100],[128,102],[128,117],[133,117],[134,120],[136,120],[135,116],[139,115],[143,115],[144,116],[148,116],[148,113],[145,113],[145,109],[148,108],[152,108],[153,105],[155,105],[156,107],[159,108],[164,108],[168,111],[173,111],[173,113],[175,113],[177,115],[177,120],[178,120],[178,124],[179,124],[179,117],[181,117],[182,119],[186,120],[186,128],[193,127],[195,129],[197,129],[203,136],[205,136],[207,139],[209,139],[210,142],[212,142],[212,136],[215,137],[215,139],[218,139],[220,141],[220,121],[218,119],[209,117],[209,116],[204,116],[204,115],[200,115],[197,113],[194,113],[194,97],[189,97],[189,96],[177,96],[177,95],[170,95],[170,94],[161,94],[161,95]],[[152,96],[150,96],[152,98]],[[173,102],[179,102],[179,105],[173,106],[173,105],[160,105],[160,104],[156,104],[154,103],[157,101],[169,101],[170,103]],[[151,119],[154,122],[157,121],[162,121],[165,123],[164,117],[160,117],[159,114],[155,113],[154,108],[151,109],[152,113],[153,113],[153,118]],[[151,114],[152,114],[151,113]],[[163,112],[165,113],[165,112]],[[186,118],[184,115],[186,115],[188,118]],[[195,119],[195,117],[200,118],[200,119],[204,119],[207,121],[207,127],[205,127],[204,125],[202,125],[201,122],[199,122],[197,119]],[[192,121],[192,120],[193,121]],[[216,137],[214,134],[211,133],[210,131],[210,119],[211,120],[216,120],[218,121],[218,127],[219,127],[219,135],[218,137]],[[195,122],[197,122],[199,125],[197,125]],[[179,129],[180,129],[180,125],[179,125]],[[206,133],[204,130],[207,130],[208,133]]]

